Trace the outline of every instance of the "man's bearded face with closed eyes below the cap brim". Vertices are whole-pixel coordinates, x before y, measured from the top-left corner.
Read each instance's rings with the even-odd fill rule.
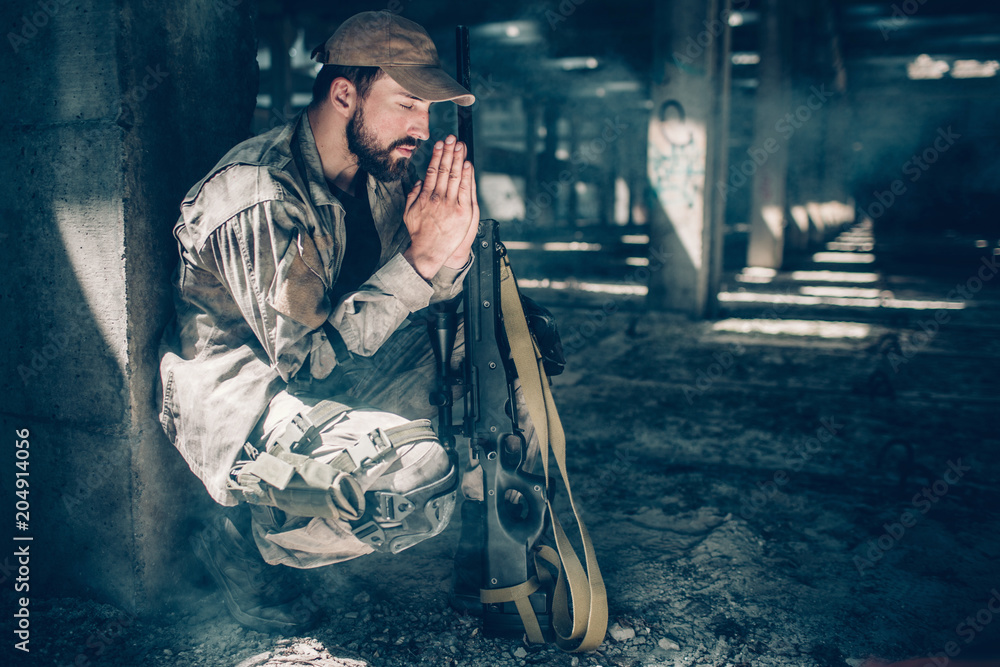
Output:
[[[387,76],[375,81],[347,123],[347,148],[358,167],[384,183],[402,178],[417,144],[429,136],[429,107]]]

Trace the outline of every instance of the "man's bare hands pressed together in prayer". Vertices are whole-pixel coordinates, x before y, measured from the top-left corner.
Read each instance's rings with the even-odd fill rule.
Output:
[[[427,280],[442,266],[464,266],[476,238],[476,179],[465,155],[465,144],[452,135],[437,142],[427,176],[406,197],[403,222],[411,244],[403,256]]]

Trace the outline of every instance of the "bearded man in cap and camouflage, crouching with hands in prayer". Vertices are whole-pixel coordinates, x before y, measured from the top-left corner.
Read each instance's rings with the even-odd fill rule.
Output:
[[[479,223],[455,137],[407,182],[431,103],[474,102],[426,31],[365,12],[313,56],[308,109],[233,148],[181,205],[160,365],[163,428],[224,506],[195,553],[239,622],[285,633],[311,607],[262,575],[398,553],[452,515],[456,466],[422,419],[419,312],[461,292]]]

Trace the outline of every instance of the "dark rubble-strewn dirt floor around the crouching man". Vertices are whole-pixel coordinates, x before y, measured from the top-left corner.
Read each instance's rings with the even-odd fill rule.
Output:
[[[743,296],[726,297],[711,322],[646,313],[633,297],[538,292],[569,351],[555,396],[610,600],[613,632],[596,653],[487,639],[451,610],[453,526],[400,556],[304,573],[321,615],[305,637],[241,628],[210,588],[154,619],[53,599],[33,608],[46,633],[33,657],[107,667],[998,658],[1000,280],[971,291],[979,260],[871,284],[730,276],[725,291]],[[956,284],[968,297],[946,299]],[[803,287],[810,298],[798,298]]]

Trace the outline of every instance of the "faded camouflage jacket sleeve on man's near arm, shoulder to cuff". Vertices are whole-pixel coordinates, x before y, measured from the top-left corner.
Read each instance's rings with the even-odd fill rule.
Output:
[[[461,292],[471,262],[426,281],[397,253],[358,291],[332,304],[334,241],[304,224],[307,215],[295,202],[261,202],[220,225],[203,253],[214,258],[215,272],[286,382],[312,352],[314,375],[325,377],[332,368],[325,336],[312,335],[324,321],[351,352],[370,356],[410,313]]]

